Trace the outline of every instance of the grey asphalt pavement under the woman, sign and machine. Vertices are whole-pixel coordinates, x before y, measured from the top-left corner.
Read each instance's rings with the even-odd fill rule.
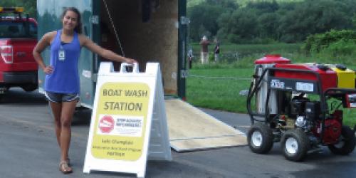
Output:
[[[246,115],[205,110],[210,115],[246,132]],[[92,172],[83,174],[90,110],[79,110],[73,122],[70,159],[73,174],[66,177],[135,177],[134,174]],[[275,144],[267,155],[252,153],[247,146],[177,153],[172,162],[147,162],[146,177],[355,177],[356,152],[333,155],[324,148],[304,162],[284,159]],[[59,149],[53,120],[43,95],[10,90],[0,103],[0,177],[63,177],[58,170]]]

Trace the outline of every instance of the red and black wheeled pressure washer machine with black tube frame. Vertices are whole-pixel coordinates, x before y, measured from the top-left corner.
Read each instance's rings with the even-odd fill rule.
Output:
[[[257,59],[246,107],[252,152],[266,154],[281,142],[286,159],[299,162],[321,146],[336,155],[355,149],[355,130],[342,124],[342,108],[356,108],[355,71],[340,64]]]

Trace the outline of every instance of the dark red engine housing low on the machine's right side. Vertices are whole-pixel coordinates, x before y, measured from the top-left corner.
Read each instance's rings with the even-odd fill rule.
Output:
[[[335,110],[330,118],[325,120],[325,129],[323,135],[323,142],[325,144],[333,144],[339,140],[342,129],[342,110]],[[321,122],[317,123],[317,127],[313,130],[316,137],[320,137]]]

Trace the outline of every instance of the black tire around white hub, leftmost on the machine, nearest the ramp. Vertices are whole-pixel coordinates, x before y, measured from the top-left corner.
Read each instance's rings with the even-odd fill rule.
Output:
[[[253,132],[260,132],[262,136],[262,142],[260,146],[253,144],[251,139]],[[250,147],[252,152],[258,154],[266,154],[271,151],[273,147],[273,133],[268,125],[262,123],[255,123],[251,125],[250,129],[247,132],[247,142],[248,147]]]

